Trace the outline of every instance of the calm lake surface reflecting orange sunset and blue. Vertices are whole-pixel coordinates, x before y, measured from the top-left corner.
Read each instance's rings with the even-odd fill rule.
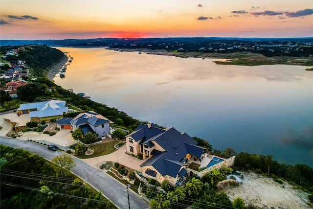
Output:
[[[313,167],[313,72],[303,66],[228,66],[104,48],[64,48],[54,81],[128,115],[175,127],[215,149],[274,155]]]

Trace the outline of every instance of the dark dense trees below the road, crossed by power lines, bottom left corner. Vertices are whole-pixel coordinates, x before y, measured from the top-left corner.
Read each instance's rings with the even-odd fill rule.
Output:
[[[53,164],[44,158],[22,149],[0,148],[1,209],[115,208],[66,170],[66,178],[56,177]]]

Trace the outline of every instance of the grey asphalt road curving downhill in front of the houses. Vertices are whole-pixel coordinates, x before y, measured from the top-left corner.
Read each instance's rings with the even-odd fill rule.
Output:
[[[55,156],[64,154],[60,151],[47,150],[45,146],[31,141],[22,141],[18,139],[0,137],[0,144],[13,148],[22,148],[29,152],[38,154],[45,159],[51,160]],[[76,166],[71,171],[86,181],[90,186],[101,191],[108,199],[110,199],[120,209],[128,209],[126,186],[113,179],[101,170],[77,159],[73,158]],[[139,195],[129,189],[129,199],[131,209],[148,209],[149,204],[140,198]]]

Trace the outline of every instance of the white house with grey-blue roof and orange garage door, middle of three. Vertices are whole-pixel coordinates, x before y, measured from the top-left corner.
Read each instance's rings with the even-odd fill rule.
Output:
[[[95,133],[97,138],[101,138],[110,134],[110,123],[112,124],[113,122],[94,111],[89,111],[81,113],[74,118],[60,118],[56,123],[60,129],[75,130],[79,128],[84,135],[91,132]]]

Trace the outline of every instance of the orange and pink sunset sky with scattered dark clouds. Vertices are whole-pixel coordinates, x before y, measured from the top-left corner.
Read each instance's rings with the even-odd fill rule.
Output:
[[[0,39],[313,37],[312,0],[1,0]]]

